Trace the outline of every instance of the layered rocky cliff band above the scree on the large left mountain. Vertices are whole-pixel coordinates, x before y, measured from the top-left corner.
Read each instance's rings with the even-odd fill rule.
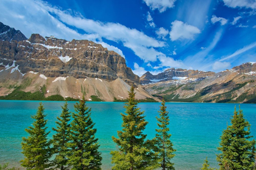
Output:
[[[87,40],[66,41],[53,36],[44,39],[33,34],[26,41],[0,41],[2,66],[18,66],[21,73],[38,72],[46,77],[121,78],[139,83],[139,77],[126,66],[126,60],[100,44]]]

